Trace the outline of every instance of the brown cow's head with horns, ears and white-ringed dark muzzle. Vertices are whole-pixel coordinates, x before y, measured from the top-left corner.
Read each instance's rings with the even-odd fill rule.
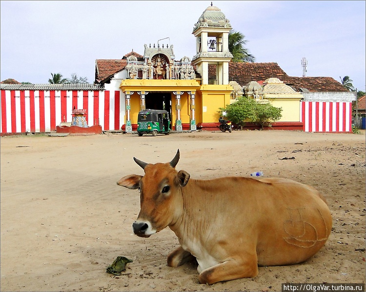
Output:
[[[178,159],[177,158],[178,155]],[[185,186],[189,174],[183,170],[176,171],[175,165],[179,160],[179,150],[170,163],[145,164],[137,159],[144,176],[129,175],[117,182],[131,189],[140,189],[141,210],[137,220],[132,224],[133,231],[140,237],[163,230],[173,222],[177,208],[180,208],[180,187]]]

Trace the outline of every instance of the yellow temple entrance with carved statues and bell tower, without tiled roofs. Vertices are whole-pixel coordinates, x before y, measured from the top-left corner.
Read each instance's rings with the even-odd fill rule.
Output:
[[[177,131],[182,131],[183,125],[196,130],[197,125],[201,128],[218,121],[218,109],[230,103],[233,90],[228,80],[230,29],[221,10],[211,5],[194,26],[197,54],[192,61],[184,56],[177,62],[173,46],[159,44],[153,48],[145,45],[140,60],[130,55],[125,67],[127,78],[120,85],[125,95],[125,130],[132,131],[138,112],[145,109],[168,110]],[[212,64],[217,68],[217,84],[209,84],[208,65]],[[152,98],[155,102],[147,102]]]

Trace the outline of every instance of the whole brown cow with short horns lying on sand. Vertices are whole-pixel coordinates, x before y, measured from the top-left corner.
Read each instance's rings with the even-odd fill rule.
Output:
[[[199,280],[213,284],[258,275],[260,266],[301,263],[325,244],[332,218],[313,187],[287,179],[224,177],[190,179],[170,163],[147,164],[145,175],[117,184],[140,189],[141,210],[133,223],[149,237],[169,226],[181,244],[168,256],[178,267],[196,257]]]

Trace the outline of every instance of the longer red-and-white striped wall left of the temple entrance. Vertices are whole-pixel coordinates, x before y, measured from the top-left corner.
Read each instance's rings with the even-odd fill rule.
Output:
[[[72,110],[85,109],[88,126],[119,130],[124,124],[121,91],[1,90],[0,130],[5,133],[50,132],[72,121]]]

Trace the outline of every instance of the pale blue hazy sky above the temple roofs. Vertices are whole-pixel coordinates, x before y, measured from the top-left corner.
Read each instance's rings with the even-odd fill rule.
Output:
[[[211,1],[0,1],[0,80],[48,83],[51,73],[94,82],[96,59],[174,45],[195,55],[194,24]],[[348,75],[366,91],[366,1],[213,1],[257,62],[290,76]]]

